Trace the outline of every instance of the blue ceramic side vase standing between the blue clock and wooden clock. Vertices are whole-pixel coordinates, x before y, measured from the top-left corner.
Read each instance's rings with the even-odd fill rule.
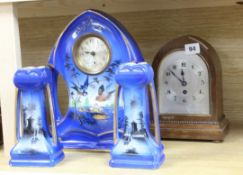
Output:
[[[154,119],[156,121],[155,126],[157,126],[157,133],[155,134],[157,138],[149,131],[148,89],[151,91],[150,94],[153,94],[151,98],[154,111],[157,111],[153,70],[145,62],[138,64],[126,63],[120,65],[115,79],[120,86],[124,102],[125,126],[122,136],[118,135],[116,145],[112,149],[110,166],[159,168],[165,156],[163,154],[163,145],[160,142],[157,112],[154,112],[154,115],[156,115]],[[118,117],[120,117],[119,115],[118,113]]]

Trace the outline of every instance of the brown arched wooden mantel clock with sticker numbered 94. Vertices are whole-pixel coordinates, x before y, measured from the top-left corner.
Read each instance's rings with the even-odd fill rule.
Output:
[[[221,64],[214,48],[195,36],[163,46],[153,61],[163,138],[222,141]]]

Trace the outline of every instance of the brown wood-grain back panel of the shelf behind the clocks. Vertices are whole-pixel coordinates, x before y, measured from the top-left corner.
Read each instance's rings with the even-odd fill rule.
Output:
[[[229,120],[243,120],[243,7],[207,7],[112,13],[138,42],[152,63],[159,48],[181,35],[195,35],[217,51],[223,71],[223,104]],[[20,34],[23,66],[44,65],[60,32],[74,16],[22,18]],[[59,101],[67,106],[61,81]]]

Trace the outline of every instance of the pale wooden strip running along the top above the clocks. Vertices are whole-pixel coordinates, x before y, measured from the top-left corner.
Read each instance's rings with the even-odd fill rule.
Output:
[[[13,0],[4,0],[13,1]],[[21,0],[18,0],[21,1]],[[36,0],[17,3],[19,17],[77,15],[92,8],[109,13],[198,7],[237,6],[241,0]]]

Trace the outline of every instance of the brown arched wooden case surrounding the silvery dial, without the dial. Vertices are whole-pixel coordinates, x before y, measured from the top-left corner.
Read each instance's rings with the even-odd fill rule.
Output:
[[[153,61],[157,93],[161,88],[159,67],[165,57],[175,51],[184,51],[185,44],[199,43],[200,53],[208,70],[209,115],[187,115],[178,113],[160,113],[160,129],[163,138],[197,139],[221,141],[227,133],[229,122],[223,114],[221,64],[214,48],[206,41],[195,36],[182,36],[163,46]],[[159,94],[157,94],[158,98]],[[160,101],[160,100],[158,100]],[[159,106],[163,105],[159,103]],[[153,129],[153,126],[152,126]]]

